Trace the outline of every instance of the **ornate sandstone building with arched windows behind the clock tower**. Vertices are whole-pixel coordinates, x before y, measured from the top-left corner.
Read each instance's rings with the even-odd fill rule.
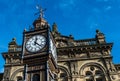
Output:
[[[75,40],[72,35],[60,34],[54,23],[51,33],[57,48],[58,66],[53,81],[120,81],[120,65],[112,62],[113,43],[107,43],[102,32],[96,30],[94,38]],[[2,81],[23,81],[22,46],[13,38],[8,52],[2,54],[5,59]]]

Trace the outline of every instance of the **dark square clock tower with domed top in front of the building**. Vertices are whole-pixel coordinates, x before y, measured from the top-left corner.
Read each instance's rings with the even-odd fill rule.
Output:
[[[50,26],[40,16],[33,22],[34,28],[23,32],[22,59],[25,81],[55,81],[57,71],[57,54]]]

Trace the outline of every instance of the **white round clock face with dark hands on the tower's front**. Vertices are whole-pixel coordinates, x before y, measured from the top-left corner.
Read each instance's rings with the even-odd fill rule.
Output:
[[[42,35],[35,35],[28,39],[26,42],[26,49],[29,52],[38,52],[40,51],[46,44],[46,38]]]

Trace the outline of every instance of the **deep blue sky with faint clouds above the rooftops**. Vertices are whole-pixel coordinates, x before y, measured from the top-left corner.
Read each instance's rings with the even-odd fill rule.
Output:
[[[100,29],[107,42],[113,42],[114,63],[120,63],[120,0],[0,0],[0,53],[8,50],[8,43],[16,37],[22,44],[22,33],[38,17],[36,5],[46,8],[44,18],[50,25],[56,22],[64,35],[75,39],[94,38]],[[4,60],[0,55],[0,72]]]

